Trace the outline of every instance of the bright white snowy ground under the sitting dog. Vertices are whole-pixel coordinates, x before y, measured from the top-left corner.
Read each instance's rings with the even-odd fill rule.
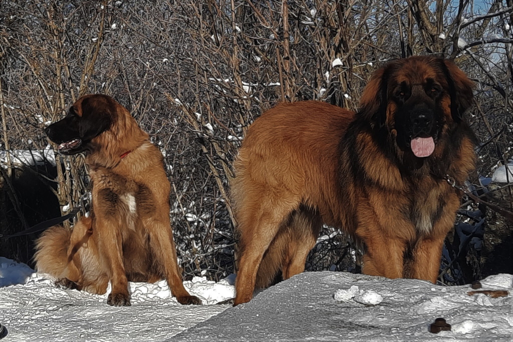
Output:
[[[132,306],[119,308],[106,304],[107,294],[57,289],[53,279],[27,265],[0,258],[0,266],[0,324],[8,330],[2,342],[165,340],[229,308],[208,304],[234,293],[229,279],[194,278],[184,285],[204,305],[183,306],[166,281],[129,283]]]

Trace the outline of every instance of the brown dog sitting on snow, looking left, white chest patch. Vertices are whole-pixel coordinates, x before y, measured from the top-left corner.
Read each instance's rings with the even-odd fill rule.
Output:
[[[55,226],[37,240],[38,271],[56,284],[104,294],[129,306],[127,281],[165,278],[181,304],[201,304],[182,283],[169,219],[170,184],[162,154],[128,110],[106,95],[85,95],[46,128],[63,154],[86,153],[91,218],[73,231]]]

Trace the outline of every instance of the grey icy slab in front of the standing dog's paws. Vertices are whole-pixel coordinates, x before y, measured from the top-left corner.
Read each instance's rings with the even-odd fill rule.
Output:
[[[512,279],[501,274],[482,284],[503,289]],[[483,305],[476,299],[484,295],[467,294],[469,285],[441,287],[415,279],[305,272],[175,335],[173,341],[510,341],[513,297],[508,289],[507,297],[486,297],[490,305]],[[357,297],[382,300],[362,305]],[[428,332],[437,317],[445,318],[452,331]]]

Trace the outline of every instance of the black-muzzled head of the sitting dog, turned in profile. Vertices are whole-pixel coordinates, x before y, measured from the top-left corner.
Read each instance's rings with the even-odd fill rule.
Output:
[[[84,95],[69,108],[60,121],[45,129],[58,151],[71,155],[89,151],[92,140],[109,130],[116,121],[119,106],[107,95]]]

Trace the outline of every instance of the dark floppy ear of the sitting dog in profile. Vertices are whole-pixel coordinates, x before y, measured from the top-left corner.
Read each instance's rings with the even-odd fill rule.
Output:
[[[82,120],[78,125],[83,140],[88,141],[110,128],[115,108],[106,96],[91,96],[81,103]]]

